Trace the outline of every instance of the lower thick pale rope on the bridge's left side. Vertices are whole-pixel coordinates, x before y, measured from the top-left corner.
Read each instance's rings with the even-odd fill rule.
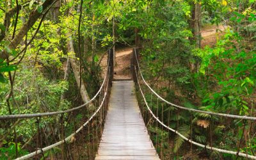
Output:
[[[109,74],[108,74],[109,75]],[[80,132],[84,127],[86,127],[87,124],[89,124],[89,122],[93,119],[93,117],[100,111],[100,109],[102,108],[103,104],[104,104],[104,101],[106,99],[106,96],[108,94],[108,85],[109,85],[109,77],[108,77],[108,83],[107,83],[107,86],[106,86],[106,91],[104,92],[104,97],[102,99],[102,102],[99,106],[99,108],[93,113],[92,116],[90,116],[90,118],[83,124],[81,125],[81,127],[79,127],[79,129],[77,129],[75,132],[73,132],[72,134],[70,134],[69,136],[67,136],[67,138],[65,138],[64,140],[61,140],[61,141],[58,141],[52,145],[49,145],[47,147],[44,147],[44,148],[40,148],[38,150],[36,150],[35,152],[31,152],[30,154],[27,154],[25,156],[22,156],[22,157],[19,157],[15,160],[23,160],[23,159],[29,159],[33,156],[36,156],[37,154],[41,154],[42,152],[45,152],[47,150],[50,150],[51,148],[54,148],[54,147],[57,147],[58,145],[61,145],[62,143],[65,143],[66,141],[69,141],[73,136],[76,136],[76,134],[78,132]]]

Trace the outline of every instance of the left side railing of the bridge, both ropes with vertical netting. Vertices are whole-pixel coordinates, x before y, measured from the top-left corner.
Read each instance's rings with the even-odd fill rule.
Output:
[[[107,71],[102,81],[102,84],[99,88],[99,91],[93,96],[92,99],[88,102],[77,106],[76,108],[67,109],[64,111],[53,111],[47,113],[33,113],[33,114],[19,114],[19,115],[1,115],[0,120],[22,120],[26,118],[36,118],[36,150],[29,154],[19,157],[19,154],[16,154],[17,159],[31,159],[31,158],[42,158],[45,159],[46,156],[51,156],[54,152],[56,158],[61,159],[76,159],[81,157],[81,148],[76,142],[76,138],[82,138],[85,141],[86,148],[83,147],[83,152],[86,152],[86,159],[94,159],[97,152],[97,147],[99,147],[100,137],[103,132],[104,122],[106,120],[106,114],[108,111],[108,100],[111,88],[111,82],[113,79],[113,50],[108,51],[108,60],[107,60]],[[64,114],[66,114],[67,121],[64,120]],[[85,119],[85,122],[81,125],[81,122],[76,122],[74,118],[75,114],[81,113],[86,115],[88,118],[84,117],[81,120]],[[56,141],[51,145],[48,145],[48,135],[45,134],[44,127],[40,122],[45,116],[58,116],[58,122],[60,126],[57,127],[58,131],[54,131],[57,135],[53,136],[52,139]],[[73,121],[72,121],[73,120]],[[72,122],[71,122],[72,121]],[[81,125],[76,129],[77,125]],[[65,136],[67,126],[70,125],[71,130],[73,131],[69,136]],[[77,134],[79,133],[79,136]],[[45,147],[43,146],[43,139]],[[59,141],[57,138],[60,138]],[[51,138],[50,138],[51,139]],[[51,141],[52,142],[52,141]],[[50,142],[50,143],[51,143]],[[82,142],[83,143],[83,142]],[[58,146],[61,145],[61,149]],[[59,150],[56,154],[56,150]],[[17,152],[17,149],[16,149]],[[61,152],[61,155],[59,155]],[[46,156],[45,156],[46,155]],[[84,155],[83,155],[84,156]],[[82,157],[83,157],[82,156]]]

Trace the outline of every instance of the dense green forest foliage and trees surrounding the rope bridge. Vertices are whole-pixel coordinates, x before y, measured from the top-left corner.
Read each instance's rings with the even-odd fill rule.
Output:
[[[207,26],[225,29],[214,28],[212,40],[202,36]],[[4,0],[0,3],[0,115],[82,104],[79,78],[92,97],[102,79],[102,54],[113,44],[140,47],[143,74],[164,99],[187,108],[256,116],[255,0]],[[167,118],[170,112],[175,116]],[[199,143],[256,153],[255,122],[167,105],[164,115],[165,124]],[[63,117],[68,121],[69,116]],[[81,115],[76,113],[76,118]],[[60,116],[42,118],[40,125],[45,134],[54,135],[59,122]],[[0,127],[0,159],[14,158],[15,148],[23,155],[35,147],[36,119],[4,121]],[[68,123],[65,127],[68,135],[72,127]],[[196,147],[184,152],[180,148],[190,145],[179,136],[154,126],[150,130],[163,138],[164,154],[174,153],[169,159],[235,158]],[[155,143],[156,137],[152,140]]]

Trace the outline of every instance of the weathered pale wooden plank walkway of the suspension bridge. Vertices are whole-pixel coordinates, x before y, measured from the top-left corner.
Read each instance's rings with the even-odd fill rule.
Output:
[[[109,111],[95,159],[159,160],[140,114],[133,81],[113,81]]]

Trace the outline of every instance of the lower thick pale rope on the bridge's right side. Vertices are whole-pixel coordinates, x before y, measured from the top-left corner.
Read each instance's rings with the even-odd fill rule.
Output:
[[[138,81],[138,76],[137,76],[137,71],[136,71],[136,66],[134,66],[135,68],[135,72],[136,72],[136,78],[137,78],[137,81]],[[150,114],[154,117],[154,119],[157,120],[157,122],[159,122],[159,124],[163,125],[163,127],[165,127],[166,129],[172,131],[172,132],[175,132],[175,134],[179,135],[183,140],[186,140],[186,141],[189,141],[189,143],[192,143],[193,145],[196,145],[198,147],[202,147],[202,148],[207,148],[208,150],[215,150],[217,152],[222,152],[222,153],[226,153],[226,154],[232,154],[232,155],[236,155],[236,156],[241,156],[241,157],[246,157],[246,158],[250,158],[250,159],[256,159],[256,156],[252,156],[252,155],[249,155],[249,154],[243,154],[241,152],[235,152],[235,151],[232,151],[232,150],[224,150],[224,149],[220,149],[220,148],[216,148],[216,147],[211,147],[209,145],[203,145],[201,143],[197,143],[196,141],[192,141],[190,140],[189,138],[186,138],[185,136],[183,136],[182,134],[180,134],[180,132],[176,131],[175,129],[172,129],[171,127],[165,125],[163,122],[161,122],[161,120],[159,120],[159,118],[154,115],[153,111],[150,109],[150,107],[148,106],[148,103],[147,103],[147,100],[145,98],[145,95],[143,94],[142,90],[141,90],[141,86],[140,86],[140,83],[138,81],[138,86],[140,88],[140,92],[141,92],[141,95],[143,97],[143,100],[147,106],[147,109],[148,111],[150,112]]]

